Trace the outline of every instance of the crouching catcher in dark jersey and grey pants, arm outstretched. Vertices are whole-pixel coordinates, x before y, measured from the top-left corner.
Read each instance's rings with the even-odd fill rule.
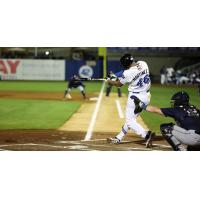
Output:
[[[160,130],[175,151],[200,150],[200,110],[190,105],[189,99],[189,95],[181,91],[172,96],[171,108],[146,107],[148,112],[174,118],[176,125],[161,124]]]

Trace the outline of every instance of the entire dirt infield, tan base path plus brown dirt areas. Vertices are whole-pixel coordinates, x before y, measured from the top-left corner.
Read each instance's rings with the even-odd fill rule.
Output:
[[[38,93],[38,92],[0,92],[0,98],[11,99],[42,99],[62,100],[62,93]],[[89,94],[88,99],[82,99],[81,94],[72,94],[73,100],[83,101],[85,107],[81,108],[72,116],[77,114],[72,123],[59,130],[0,130],[0,150],[21,150],[21,151],[149,151],[149,150],[171,150],[171,147],[161,138],[156,137],[151,149],[145,148],[144,140],[135,134],[128,133],[121,144],[108,144],[107,137],[114,136],[120,130],[124,118],[118,116],[115,104],[116,94],[111,97],[103,97],[93,135],[90,140],[84,140],[88,125],[93,115],[96,101],[90,101],[91,97],[98,97],[98,94]],[[124,110],[126,97],[120,98],[122,110]],[[88,108],[91,108],[91,111]],[[88,118],[83,116],[86,114]],[[80,117],[81,116],[81,117]],[[83,122],[85,120],[85,123]],[[82,121],[82,122],[81,122]],[[84,124],[80,127],[80,124]],[[73,124],[73,125],[72,125]]]

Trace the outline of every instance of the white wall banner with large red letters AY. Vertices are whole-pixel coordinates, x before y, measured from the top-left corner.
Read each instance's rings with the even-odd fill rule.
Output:
[[[64,60],[0,59],[2,80],[65,80]]]

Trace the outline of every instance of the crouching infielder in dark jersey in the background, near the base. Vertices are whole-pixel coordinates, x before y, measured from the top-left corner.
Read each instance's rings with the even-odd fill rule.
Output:
[[[85,85],[77,75],[74,75],[69,81],[68,87],[65,89],[64,99],[72,99],[70,92],[73,88],[78,88],[83,95],[83,98],[86,99]]]

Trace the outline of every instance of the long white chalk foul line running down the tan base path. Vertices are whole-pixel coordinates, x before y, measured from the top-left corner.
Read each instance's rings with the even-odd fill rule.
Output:
[[[93,128],[94,128],[94,125],[95,125],[95,122],[96,122],[97,114],[98,114],[99,107],[100,107],[100,104],[101,104],[101,101],[102,101],[102,97],[103,97],[104,87],[105,87],[105,81],[102,84],[101,91],[100,91],[99,97],[98,97],[98,101],[96,103],[96,107],[95,107],[95,110],[93,112],[92,119],[90,121],[90,125],[89,125],[87,133],[85,135],[85,139],[84,139],[85,141],[90,140],[91,137],[92,137]]]

